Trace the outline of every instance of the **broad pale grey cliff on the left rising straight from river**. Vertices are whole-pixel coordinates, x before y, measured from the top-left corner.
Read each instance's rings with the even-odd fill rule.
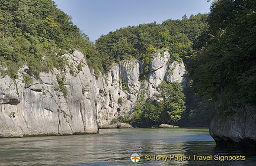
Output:
[[[65,56],[73,66],[84,61],[78,51]],[[30,84],[23,80],[25,69],[15,80],[0,77],[0,137],[97,133],[95,77],[82,64],[81,71],[73,67],[75,74],[66,67],[65,73],[41,73]]]

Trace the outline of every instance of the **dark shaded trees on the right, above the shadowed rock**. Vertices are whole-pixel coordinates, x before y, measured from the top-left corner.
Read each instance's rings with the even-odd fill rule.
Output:
[[[193,89],[217,103],[256,103],[255,1],[214,1],[209,30],[193,55]]]

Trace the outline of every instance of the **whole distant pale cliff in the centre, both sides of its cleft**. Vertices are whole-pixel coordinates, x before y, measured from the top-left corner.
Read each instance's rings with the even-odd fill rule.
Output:
[[[109,128],[113,119],[127,116],[133,111],[139,95],[154,97],[159,94],[158,86],[165,80],[169,83],[184,81],[185,67],[183,63],[169,63],[169,53],[156,54],[149,64],[149,79],[140,82],[140,62],[124,60],[114,64],[106,73],[106,83],[99,79],[97,86],[101,95],[97,102],[97,123],[100,128]]]

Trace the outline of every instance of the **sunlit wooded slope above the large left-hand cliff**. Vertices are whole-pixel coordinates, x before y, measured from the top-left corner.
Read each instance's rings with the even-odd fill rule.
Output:
[[[2,0],[0,2],[0,65],[15,79],[17,70],[39,77],[42,71],[66,65],[60,56],[78,49],[89,66],[103,71],[95,46],[71,18],[50,0]]]

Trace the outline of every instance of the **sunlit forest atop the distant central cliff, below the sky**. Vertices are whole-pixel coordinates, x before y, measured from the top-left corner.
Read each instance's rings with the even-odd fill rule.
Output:
[[[120,28],[103,35],[96,41],[104,70],[121,60],[136,58],[142,61],[140,79],[149,74],[149,63],[157,50],[169,50],[172,60],[182,61],[193,51],[192,43],[207,28],[207,15],[191,15],[188,19],[167,20],[162,24],[140,24]]]

